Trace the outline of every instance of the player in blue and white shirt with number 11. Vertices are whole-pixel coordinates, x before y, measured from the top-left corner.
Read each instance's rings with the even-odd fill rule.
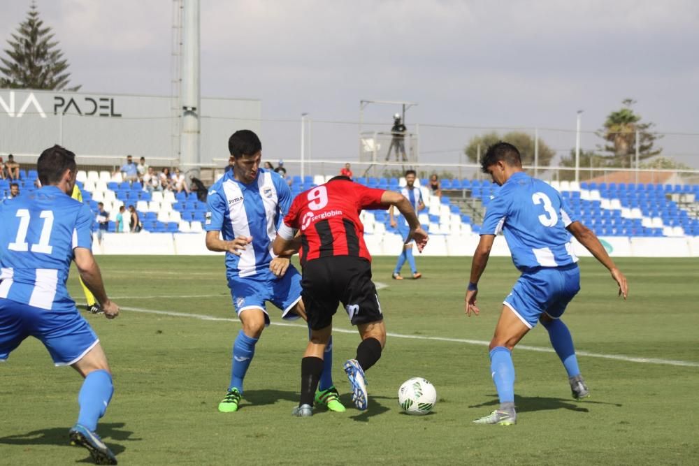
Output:
[[[85,446],[95,463],[115,465],[96,434],[114,391],[112,376],[97,335],[66,289],[71,261],[108,319],[119,307],[107,297],[92,256],[92,211],[70,196],[78,173],[75,154],[55,145],[36,165],[42,187],[0,202],[0,361],[31,335],[55,365],[70,365],[85,377],[71,443]]]

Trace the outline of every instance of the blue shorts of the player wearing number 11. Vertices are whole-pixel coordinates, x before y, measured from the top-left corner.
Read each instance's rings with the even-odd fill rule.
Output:
[[[77,309],[53,312],[0,298],[0,361],[30,336],[41,340],[55,365],[77,363],[99,342]]]

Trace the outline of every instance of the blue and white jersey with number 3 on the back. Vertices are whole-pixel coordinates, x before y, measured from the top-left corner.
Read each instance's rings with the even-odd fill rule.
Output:
[[[481,235],[505,233],[519,270],[577,262],[566,226],[578,218],[561,194],[524,172],[514,173],[488,204]]]

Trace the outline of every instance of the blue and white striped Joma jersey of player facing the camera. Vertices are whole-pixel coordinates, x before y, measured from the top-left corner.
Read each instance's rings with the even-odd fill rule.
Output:
[[[269,268],[275,257],[272,241],[291,206],[289,185],[278,174],[260,168],[257,179],[244,184],[233,177],[233,170],[209,188],[206,199],[206,231],[220,231],[223,239],[252,236],[243,254],[226,252],[226,276],[248,277]]]

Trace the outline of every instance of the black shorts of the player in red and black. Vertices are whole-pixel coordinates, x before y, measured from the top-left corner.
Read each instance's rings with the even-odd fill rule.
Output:
[[[308,261],[303,267],[301,286],[308,325],[313,330],[333,322],[340,302],[352,325],[384,319],[371,281],[371,263],[366,259],[333,256]]]

